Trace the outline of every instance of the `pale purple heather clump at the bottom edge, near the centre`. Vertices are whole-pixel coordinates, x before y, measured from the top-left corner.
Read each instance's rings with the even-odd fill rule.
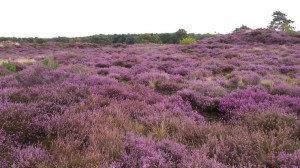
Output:
[[[188,167],[191,157],[181,144],[170,140],[154,143],[149,138],[129,135],[125,153],[113,167]]]

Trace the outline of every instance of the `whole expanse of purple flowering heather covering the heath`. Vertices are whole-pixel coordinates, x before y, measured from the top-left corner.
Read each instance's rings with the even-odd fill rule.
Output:
[[[299,167],[299,51],[264,29],[1,47],[0,167]]]

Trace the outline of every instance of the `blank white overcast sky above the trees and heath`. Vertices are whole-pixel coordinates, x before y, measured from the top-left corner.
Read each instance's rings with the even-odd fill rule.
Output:
[[[272,13],[300,29],[298,0],[0,0],[0,37],[93,34],[230,33],[265,28]]]

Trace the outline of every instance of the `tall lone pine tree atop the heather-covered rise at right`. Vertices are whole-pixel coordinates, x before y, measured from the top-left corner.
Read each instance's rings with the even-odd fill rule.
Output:
[[[273,20],[271,21],[269,28],[284,31],[287,25],[294,23],[294,21],[287,19],[286,14],[280,11],[273,12]]]

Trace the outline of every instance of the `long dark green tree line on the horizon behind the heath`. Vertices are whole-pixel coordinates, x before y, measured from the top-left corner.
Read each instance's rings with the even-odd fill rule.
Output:
[[[105,35],[98,34],[87,37],[54,37],[54,38],[16,38],[16,37],[0,37],[0,41],[27,42],[27,43],[45,43],[45,42],[86,42],[96,44],[139,44],[139,43],[156,43],[156,44],[179,44],[184,38],[193,38],[201,40],[204,38],[215,37],[217,34],[194,34],[187,33],[184,29],[179,29],[175,33],[160,34],[114,34]]]

